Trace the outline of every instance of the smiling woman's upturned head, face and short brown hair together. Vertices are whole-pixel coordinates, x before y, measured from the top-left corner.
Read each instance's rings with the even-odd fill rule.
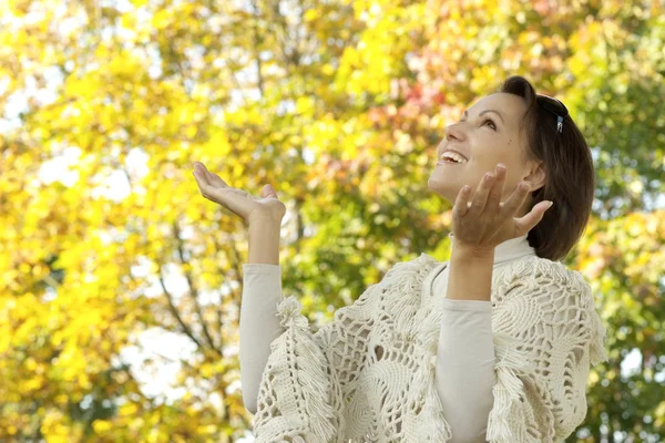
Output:
[[[539,257],[562,259],[591,214],[595,187],[591,151],[565,105],[536,94],[524,78],[508,79],[499,91],[478,100],[459,122],[447,126],[428,185],[453,203],[464,185],[475,188],[487,172],[503,164],[501,202],[520,183],[529,186],[518,216],[540,202],[554,203],[528,240]]]

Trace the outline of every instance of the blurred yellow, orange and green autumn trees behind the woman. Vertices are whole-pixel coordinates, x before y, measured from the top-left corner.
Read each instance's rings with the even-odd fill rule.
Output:
[[[284,292],[321,324],[448,259],[436,146],[511,74],[596,162],[565,262],[610,361],[569,441],[663,441],[664,48],[662,1],[2,1],[0,441],[243,441],[246,228],[192,162],[277,188]]]

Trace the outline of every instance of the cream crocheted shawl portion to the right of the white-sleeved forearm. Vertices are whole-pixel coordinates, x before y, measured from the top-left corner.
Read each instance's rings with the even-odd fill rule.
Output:
[[[586,416],[590,367],[606,361],[605,329],[576,271],[539,259],[505,281],[492,318],[498,382],[490,442],[555,442]]]

